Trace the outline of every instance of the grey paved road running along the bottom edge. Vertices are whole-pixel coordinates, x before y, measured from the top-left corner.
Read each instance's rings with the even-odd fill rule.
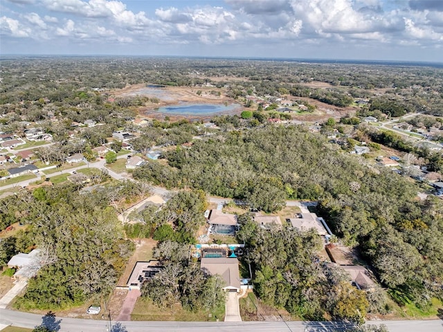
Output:
[[[57,317],[60,332],[105,332],[109,322],[105,320],[79,320]],[[442,320],[377,321],[369,324],[386,324],[390,332],[442,332]],[[42,315],[0,309],[0,324],[33,329],[42,324]],[[112,322],[111,324],[115,324]],[[349,327],[339,322],[123,322],[128,332],[332,332]]]

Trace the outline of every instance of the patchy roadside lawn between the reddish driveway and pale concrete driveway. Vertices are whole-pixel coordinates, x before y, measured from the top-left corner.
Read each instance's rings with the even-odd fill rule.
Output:
[[[224,320],[224,306],[215,311],[198,311],[190,313],[183,310],[181,304],[173,304],[170,308],[160,308],[150,300],[138,297],[131,320],[179,321],[179,322],[220,322]]]

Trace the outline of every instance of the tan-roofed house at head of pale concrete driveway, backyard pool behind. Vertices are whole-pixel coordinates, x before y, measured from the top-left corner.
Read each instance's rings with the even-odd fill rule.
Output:
[[[200,268],[206,275],[220,275],[225,283],[224,291],[240,291],[240,274],[237,258],[208,258],[203,257]]]

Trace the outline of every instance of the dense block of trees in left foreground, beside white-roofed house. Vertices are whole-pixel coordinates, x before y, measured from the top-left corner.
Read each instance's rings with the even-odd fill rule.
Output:
[[[66,308],[114,288],[134,249],[109,206],[114,191],[126,189],[117,185],[80,194],[78,186],[60,185],[2,200],[1,218],[28,227],[0,241],[1,264],[35,246],[41,250],[42,269],[30,279],[17,306]]]

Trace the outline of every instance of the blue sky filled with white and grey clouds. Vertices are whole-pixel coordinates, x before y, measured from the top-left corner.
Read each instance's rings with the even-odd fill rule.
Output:
[[[443,62],[443,0],[0,0],[0,56]]]

